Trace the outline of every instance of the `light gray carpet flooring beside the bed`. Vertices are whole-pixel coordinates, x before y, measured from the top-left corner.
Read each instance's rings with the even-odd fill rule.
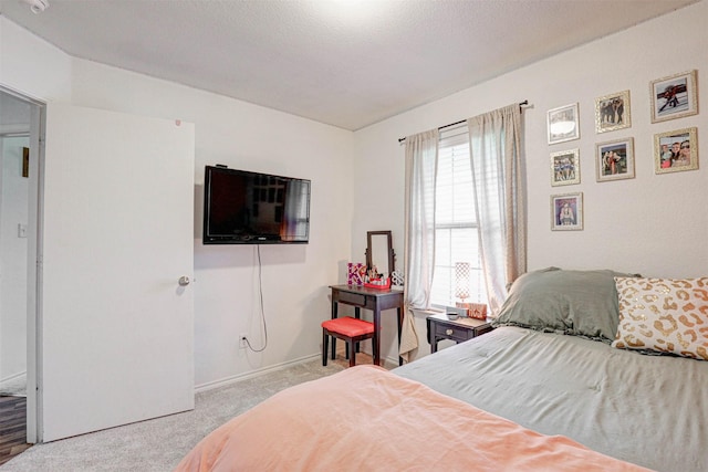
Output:
[[[371,356],[357,354],[357,364]],[[343,355],[322,366],[320,358],[202,391],[195,409],[148,421],[35,444],[4,463],[1,472],[171,471],[205,436],[273,394],[343,370]]]

